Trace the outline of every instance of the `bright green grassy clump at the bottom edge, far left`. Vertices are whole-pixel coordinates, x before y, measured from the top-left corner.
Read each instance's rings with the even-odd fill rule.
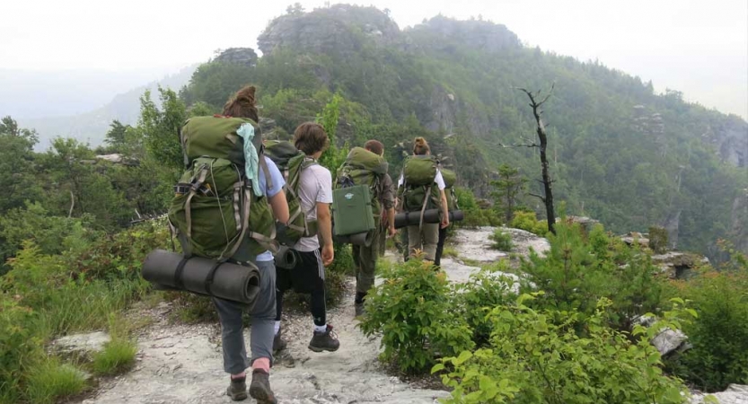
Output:
[[[54,403],[86,388],[85,374],[72,364],[48,359],[29,372],[26,397],[32,403]]]

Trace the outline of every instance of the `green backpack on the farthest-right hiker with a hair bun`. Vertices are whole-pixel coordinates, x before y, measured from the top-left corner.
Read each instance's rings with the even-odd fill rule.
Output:
[[[411,155],[402,166],[402,187],[399,198],[405,212],[436,209],[441,206],[441,192],[434,179],[439,160],[433,155]],[[444,175],[444,174],[443,174]]]

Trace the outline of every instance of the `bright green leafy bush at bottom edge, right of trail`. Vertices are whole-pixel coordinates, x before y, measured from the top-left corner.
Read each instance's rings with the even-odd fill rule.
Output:
[[[444,358],[432,373],[453,388],[445,403],[582,404],[682,403],[687,389],[666,377],[660,355],[649,344],[663,327],[677,328],[678,311],[650,329],[629,335],[605,326],[611,302],[601,299],[591,316],[576,312],[534,311],[520,296],[489,314],[490,346]],[[585,328],[579,337],[575,329]]]

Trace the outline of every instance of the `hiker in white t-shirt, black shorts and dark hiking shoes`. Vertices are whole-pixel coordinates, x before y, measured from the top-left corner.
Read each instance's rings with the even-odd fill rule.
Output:
[[[281,336],[281,315],[283,294],[294,287],[297,292],[312,296],[312,340],[309,349],[314,352],[336,351],[340,343],[332,326],[327,323],[325,303],[325,267],[332,263],[335,253],[332,249],[332,223],[330,204],[332,203],[332,175],[317,160],[330,145],[324,128],[314,122],[306,122],[296,127],[294,146],[303,153],[303,170],[298,178],[292,179],[289,172],[288,191],[295,192],[299,206],[306,219],[316,222],[317,234],[298,238],[292,249],[297,254],[295,268],[277,268],[277,294],[275,314],[275,350],[286,347]],[[291,185],[294,185],[293,187]],[[293,212],[292,212],[293,215]]]

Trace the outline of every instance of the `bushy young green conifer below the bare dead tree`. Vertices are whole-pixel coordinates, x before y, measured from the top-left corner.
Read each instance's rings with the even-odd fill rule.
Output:
[[[625,246],[599,224],[586,239],[579,224],[561,222],[556,232],[548,235],[550,250],[544,258],[533,253],[521,264],[534,285],[524,285],[524,290],[545,291],[532,304],[585,316],[607,298],[612,300],[609,324],[624,331],[631,330],[639,315],[657,310],[663,281],[646,253]]]

